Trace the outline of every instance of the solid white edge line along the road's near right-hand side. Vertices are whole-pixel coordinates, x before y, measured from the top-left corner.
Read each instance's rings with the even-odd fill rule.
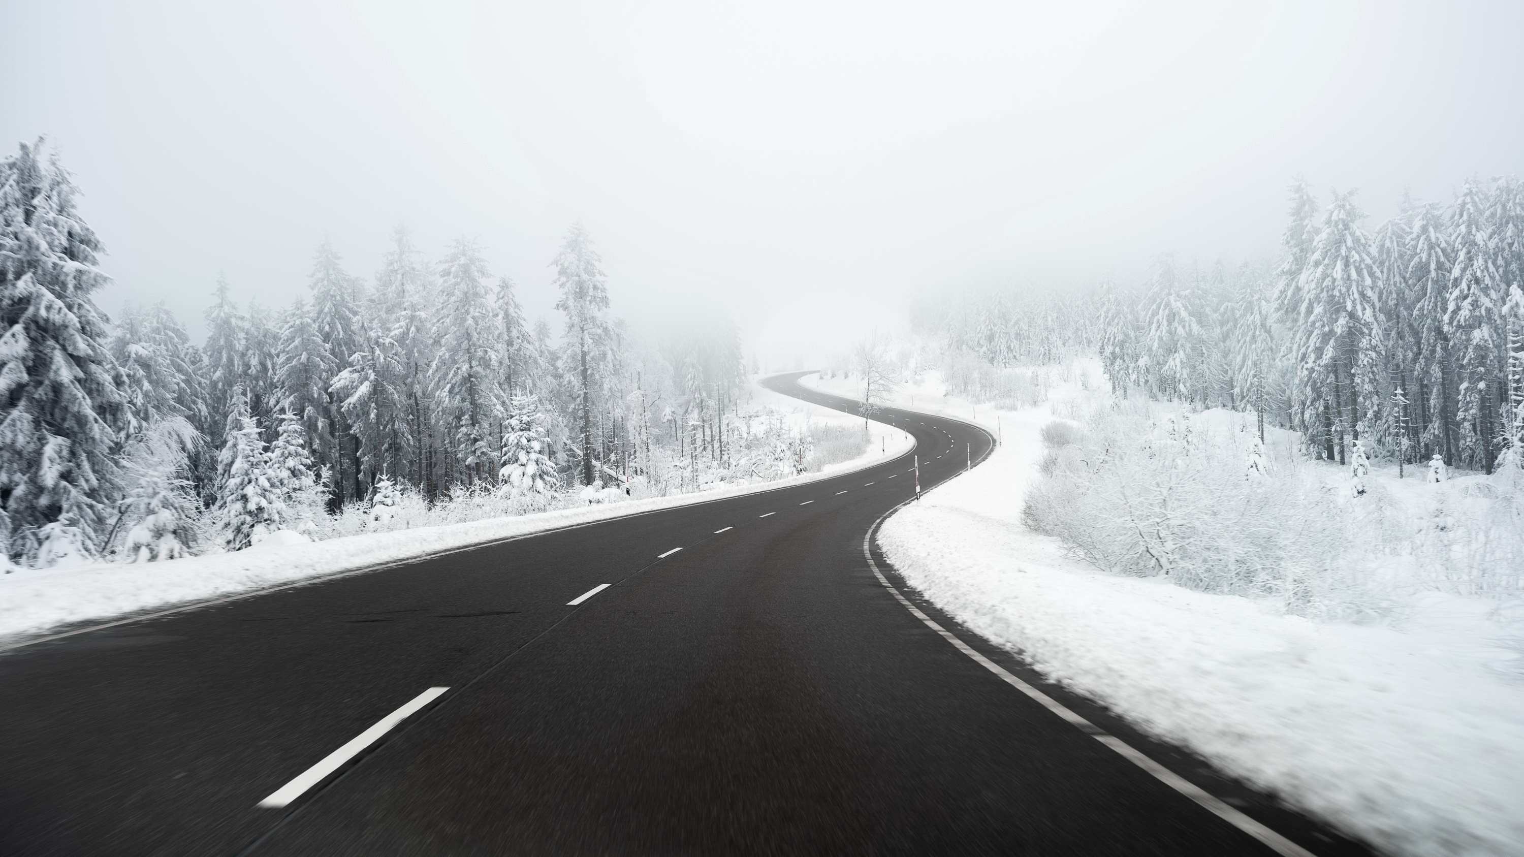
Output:
[[[901,505],[904,505],[904,503],[901,503]],[[1085,720],[1084,717],[1081,717],[1081,715],[1074,714],[1073,711],[1070,711],[1068,706],[1059,703],[1053,697],[1044,694],[1042,691],[1033,688],[1032,685],[1023,682],[1021,679],[1017,679],[1006,668],[1000,666],[994,660],[989,660],[983,654],[974,651],[966,642],[960,640],[951,631],[948,631],[946,628],[943,628],[942,625],[939,625],[936,621],[933,621],[930,616],[927,616],[925,613],[922,613],[920,610],[917,610],[916,605],[910,602],[910,599],[907,599],[904,595],[901,595],[901,592],[898,589],[895,589],[893,584],[888,583],[888,578],[884,576],[884,572],[881,572],[878,569],[878,563],[873,561],[873,552],[872,552],[873,531],[878,529],[878,525],[882,523],[882,520],[887,518],[888,515],[892,515],[896,509],[899,509],[899,506],[895,506],[893,509],[884,512],[882,515],[879,515],[879,518],[876,522],[873,522],[872,526],[867,528],[867,535],[863,537],[863,558],[867,560],[869,569],[873,570],[873,576],[878,578],[878,583],[884,584],[884,589],[887,589],[890,592],[890,595],[895,596],[895,601],[899,601],[905,607],[905,610],[910,610],[910,613],[916,619],[920,619],[922,622],[925,622],[925,625],[928,628],[931,628],[933,631],[942,634],[942,639],[948,640],[959,651],[962,651],[963,654],[966,654],[971,659],[974,659],[975,663],[978,663],[985,669],[989,669],[991,672],[994,672],[995,676],[998,676],[1000,679],[1003,679],[1012,688],[1021,691],[1023,694],[1026,694],[1027,697],[1030,697],[1033,701],[1036,701],[1042,708],[1052,711],[1053,714],[1056,714],[1061,718],[1064,718],[1065,721],[1068,721],[1070,726],[1074,726],[1076,729],[1079,729],[1081,732],[1090,735],[1096,741],[1100,741],[1106,747],[1111,747],[1122,758],[1128,759],[1129,762],[1132,762],[1132,764],[1138,766],[1140,769],[1146,770],[1148,773],[1154,775],[1154,779],[1158,779],[1160,782],[1163,782],[1164,785],[1169,785],[1170,788],[1173,788],[1180,794],[1184,794],[1186,798],[1190,798],[1192,801],[1196,802],[1196,805],[1199,805],[1201,808],[1207,810],[1209,813],[1218,816],[1219,819],[1228,822],[1230,825],[1239,828],[1241,831],[1253,836],[1254,839],[1257,839],[1260,843],[1263,843],[1266,848],[1269,848],[1276,854],[1280,854],[1282,857],[1315,857],[1306,848],[1301,848],[1300,845],[1297,845],[1295,842],[1291,842],[1285,836],[1280,836],[1279,833],[1269,830],[1268,827],[1265,827],[1265,825],[1256,822],[1254,819],[1245,816],[1244,813],[1234,810],[1233,807],[1227,805],[1222,799],[1216,798],[1215,794],[1205,791],[1204,788],[1198,787],[1196,784],[1190,782],[1189,779],[1177,775],[1175,772],[1172,772],[1167,767],[1158,764],[1157,761],[1151,759],[1149,756],[1140,753],[1135,747],[1132,747],[1126,741],[1123,741],[1123,740],[1120,740],[1120,738],[1117,738],[1114,735],[1108,735],[1103,729],[1100,729],[1094,723],[1091,723],[1091,721]]]

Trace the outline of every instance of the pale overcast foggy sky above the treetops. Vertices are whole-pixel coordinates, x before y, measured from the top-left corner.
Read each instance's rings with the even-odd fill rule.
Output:
[[[913,291],[1269,253],[1286,183],[1524,172],[1524,3],[6,3],[0,142],[46,134],[116,284],[195,331],[331,236],[480,238],[530,314],[581,218],[614,313],[783,357]]]

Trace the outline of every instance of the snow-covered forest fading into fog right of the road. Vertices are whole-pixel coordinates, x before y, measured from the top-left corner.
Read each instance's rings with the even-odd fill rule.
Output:
[[[946,320],[978,360],[949,381],[1009,398],[1001,368],[1099,354],[1113,389],[1254,412],[1309,457],[1492,473],[1524,444],[1524,185],[1466,181],[1454,201],[1404,200],[1375,230],[1355,192],[1318,207],[1291,189],[1279,262],[1161,256],[1140,288],[966,297]]]

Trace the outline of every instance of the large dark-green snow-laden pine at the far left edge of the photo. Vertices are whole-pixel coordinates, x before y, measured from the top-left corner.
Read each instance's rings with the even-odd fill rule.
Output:
[[[0,505],[12,555],[46,563],[44,544],[99,549],[128,410],[91,299],[102,246],[41,146],[0,162]]]

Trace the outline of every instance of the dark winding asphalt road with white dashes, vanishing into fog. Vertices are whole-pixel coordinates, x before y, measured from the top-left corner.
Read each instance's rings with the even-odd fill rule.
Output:
[[[799,375],[764,383],[856,410]],[[991,450],[878,419],[922,488]],[[905,454],[6,651],[0,854],[1367,854],[866,557],[913,479]]]

